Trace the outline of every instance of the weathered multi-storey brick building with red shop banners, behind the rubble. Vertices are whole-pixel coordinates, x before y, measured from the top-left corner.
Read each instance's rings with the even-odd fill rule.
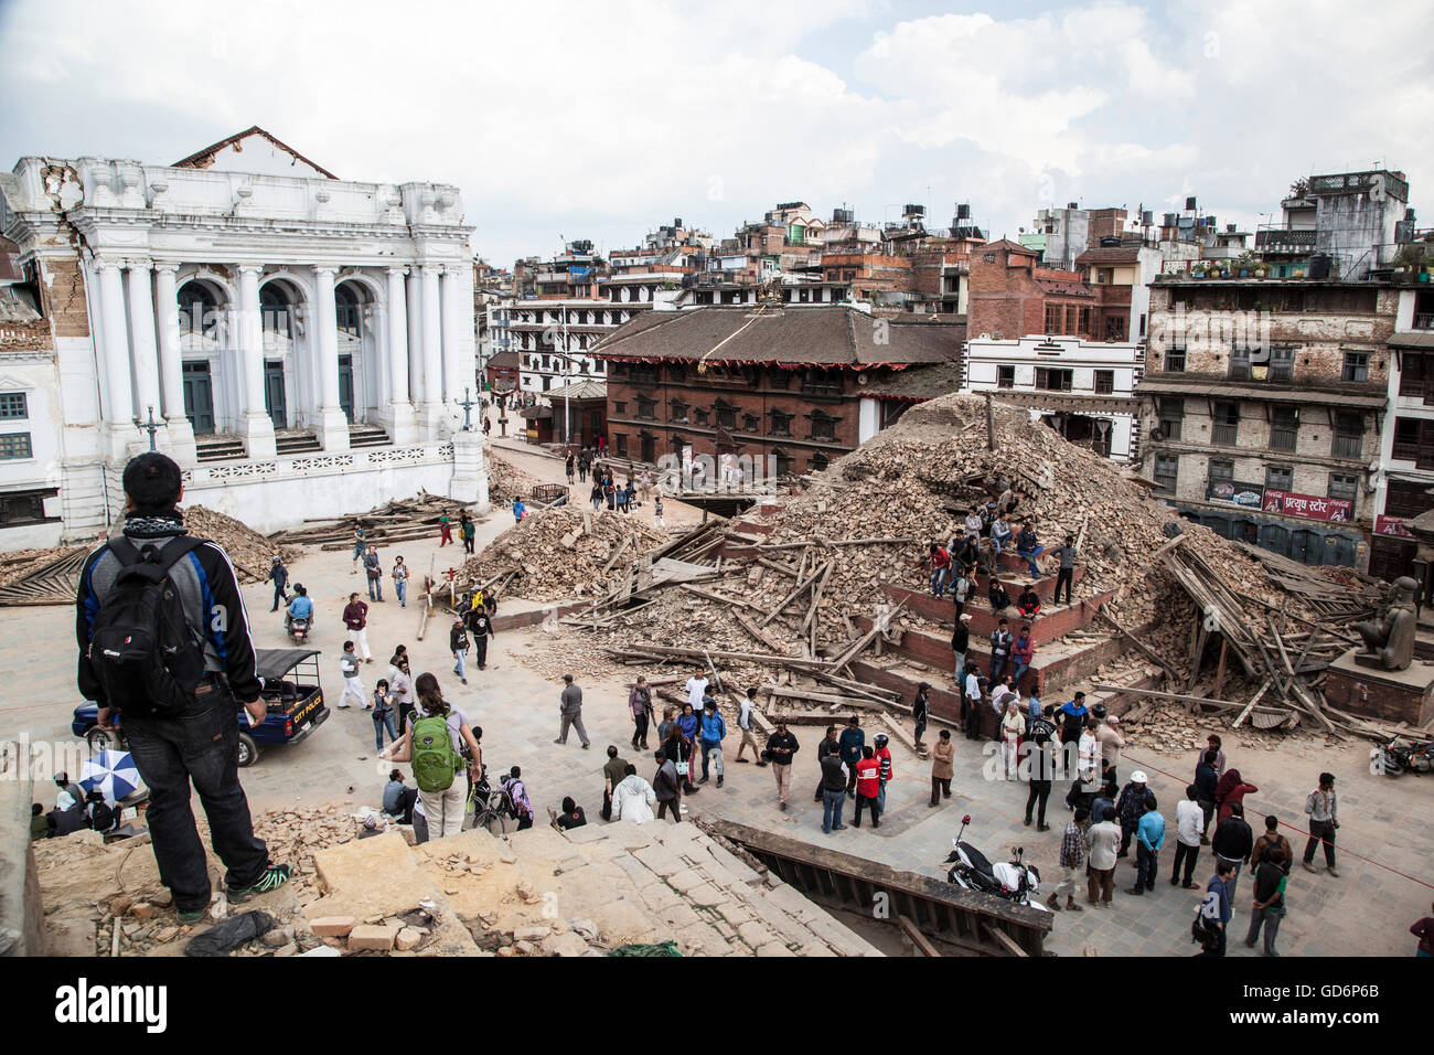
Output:
[[[1228,538],[1367,567],[1398,290],[1162,276],[1150,297],[1137,395],[1156,494]]]

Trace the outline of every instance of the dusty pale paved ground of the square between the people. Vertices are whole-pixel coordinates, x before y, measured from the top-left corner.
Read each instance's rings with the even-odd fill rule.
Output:
[[[495,429],[496,433],[496,429]],[[512,454],[522,468],[558,481],[559,462],[531,454]],[[675,504],[670,504],[673,510]],[[506,510],[496,510],[479,524],[479,545],[509,522]],[[694,511],[684,517],[700,518]],[[675,522],[670,512],[668,522]],[[406,543],[403,553],[417,573],[430,567],[445,570],[462,558],[460,548],[440,550],[437,540]],[[386,554],[387,558],[391,554]],[[360,589],[358,576],[351,576],[344,553],[311,551],[293,564],[295,577],[310,586],[317,604],[313,644],[323,649],[324,688],[328,699],[338,698],[337,653],[344,640],[338,613],[351,589]],[[260,586],[245,587],[245,600],[255,624],[261,647],[284,644],[280,616],[268,613],[272,591]],[[516,606],[516,603],[512,603]],[[509,611],[513,607],[508,609]],[[601,805],[602,749],[617,744],[627,756],[631,726],[627,718],[627,670],[594,673],[581,662],[581,637],[566,637],[542,629],[499,634],[489,649],[489,669],[469,677],[460,686],[449,675],[452,657],[447,653],[446,629],[433,627],[424,640],[417,640],[419,611],[410,606],[400,610],[396,600],[373,604],[369,639],[374,663],[363,667],[366,686],[381,676],[391,647],[407,643],[414,656],[414,673],[433,670],[447,695],[483,728],[485,756],[490,771],[505,771],[521,765],[529,784],[539,815],[549,805],[556,807],[564,795],[574,795],[594,822]],[[694,627],[700,632],[700,627]],[[32,742],[72,745],[70,711],[79,702],[75,693],[75,630],[69,609],[4,609],[0,610],[0,640],[11,642],[0,649],[0,677],[22,692],[10,692],[0,705],[0,738],[24,732]],[[576,736],[566,746],[552,744],[558,732],[558,676],[572,667],[585,693],[584,718],[594,748],[582,751]],[[678,673],[670,670],[665,673]],[[939,874],[938,863],[949,848],[951,837],[962,814],[972,815],[968,837],[977,845],[998,855],[1017,843],[1027,847],[1030,858],[1043,874],[1054,877],[1061,828],[1068,814],[1060,805],[1063,788],[1051,798],[1053,831],[1037,834],[1021,824],[1025,788],[982,777],[987,761],[981,745],[956,738],[956,798],[942,808],[926,805],[929,794],[926,764],[919,762],[895,741],[896,777],[888,789],[889,812],[878,831],[869,827],[847,830],[825,837],[820,830],[820,807],[810,800],[816,784],[815,749],[819,731],[796,731],[802,742],[793,779],[790,812],[776,810],[776,792],[766,769],[736,765],[728,751],[726,787],[714,784],[690,800],[695,814],[730,817],[782,831],[810,841],[832,840],[832,845],[862,854],[899,868],[925,874]],[[1410,923],[1428,913],[1434,890],[1427,886],[1434,876],[1428,871],[1434,837],[1418,822],[1428,814],[1434,778],[1402,777],[1397,781],[1371,775],[1368,748],[1364,741],[1351,741],[1338,748],[1326,748],[1314,741],[1291,741],[1282,746],[1260,746],[1253,739],[1226,735],[1226,755],[1240,768],[1248,781],[1260,791],[1246,798],[1250,817],[1259,824],[1266,812],[1278,815],[1288,825],[1304,828],[1302,805],[1305,794],[1321,769],[1338,775],[1341,788],[1341,877],[1311,876],[1295,868],[1289,884],[1291,911],[1281,930],[1285,955],[1410,955]],[[1121,771],[1129,774],[1141,766],[1152,774],[1153,789],[1166,814],[1173,838],[1173,805],[1183,794],[1184,782],[1193,771],[1193,759],[1154,751],[1136,744],[1126,752]],[[648,775],[650,759],[632,759]],[[366,713],[337,711],[334,716],[307,742],[293,748],[275,748],[244,771],[244,785],[257,811],[282,810],[300,805],[338,804],[357,807],[377,804],[383,777],[389,765],[374,756],[373,722]],[[850,818],[847,818],[850,820]],[[1286,835],[1302,850],[1304,838],[1286,828]],[[1153,896],[1126,897],[1120,890],[1130,884],[1133,870],[1124,863],[1117,871],[1116,911],[1080,914],[1061,913],[1048,947],[1061,955],[1080,955],[1094,949],[1104,955],[1173,955],[1193,952],[1189,942],[1189,914],[1195,899],[1190,891],[1167,883],[1170,848],[1162,854],[1162,876]],[[1355,854],[1361,855],[1357,857]],[[1316,858],[1322,860],[1322,858]],[[1048,871],[1047,871],[1048,870]],[[1405,873],[1412,878],[1395,874]],[[1209,877],[1209,857],[1203,857],[1199,878]],[[1242,877],[1232,923],[1230,955],[1246,952],[1239,939],[1249,922],[1249,878]],[[1238,932],[1238,933],[1235,933]]]

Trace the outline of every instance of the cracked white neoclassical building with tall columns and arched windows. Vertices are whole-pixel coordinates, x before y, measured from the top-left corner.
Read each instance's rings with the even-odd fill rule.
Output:
[[[258,128],[174,165],[22,158],[0,550],[105,530],[151,421],[185,501],[260,530],[420,488],[486,504],[472,231],[455,187],[341,181]]]

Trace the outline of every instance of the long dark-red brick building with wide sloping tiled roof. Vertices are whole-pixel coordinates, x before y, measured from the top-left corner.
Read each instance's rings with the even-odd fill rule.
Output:
[[[863,406],[866,386],[955,360],[964,337],[962,326],[850,306],[695,307],[645,311],[592,355],[608,366],[617,456],[655,464],[690,446],[760,458],[783,475],[856,449],[876,428],[863,429],[878,409]]]

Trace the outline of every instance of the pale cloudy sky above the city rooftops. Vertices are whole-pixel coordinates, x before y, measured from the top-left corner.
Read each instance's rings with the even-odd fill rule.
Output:
[[[790,200],[969,201],[1015,237],[1043,205],[1193,194],[1249,227],[1372,165],[1431,225],[1431,39],[1434,4],[1387,0],[0,0],[0,164],[166,164],[262,125],[343,178],[457,184],[502,266]]]

